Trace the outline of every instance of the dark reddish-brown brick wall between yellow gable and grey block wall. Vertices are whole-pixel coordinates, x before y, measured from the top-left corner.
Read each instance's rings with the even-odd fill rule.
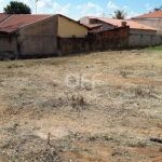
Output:
[[[91,35],[87,38],[58,38],[62,55],[86,51],[124,49],[129,41],[129,27],[121,27]]]

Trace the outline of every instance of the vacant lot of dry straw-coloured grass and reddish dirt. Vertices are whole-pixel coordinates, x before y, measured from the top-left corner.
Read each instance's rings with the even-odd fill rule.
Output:
[[[0,103],[2,162],[162,162],[161,52],[1,62]]]

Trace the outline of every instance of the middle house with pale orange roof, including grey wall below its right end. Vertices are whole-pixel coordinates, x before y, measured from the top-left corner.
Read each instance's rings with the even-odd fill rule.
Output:
[[[80,23],[86,26],[93,24],[102,24],[98,29],[100,31],[129,26],[130,29],[127,35],[127,46],[149,46],[162,44],[162,37],[157,36],[157,32],[160,29],[139,24],[131,19],[113,19],[107,17],[84,16],[80,18]],[[93,31],[96,32],[96,30],[92,30],[91,32]]]

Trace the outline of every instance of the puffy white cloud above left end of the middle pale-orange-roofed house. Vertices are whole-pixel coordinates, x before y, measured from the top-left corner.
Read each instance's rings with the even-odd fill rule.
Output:
[[[95,10],[95,12],[102,12],[103,9],[98,4],[94,4],[92,2],[89,2],[87,4],[78,5],[77,9],[81,10],[81,13],[83,15],[87,15],[89,12],[92,12],[92,10]]]

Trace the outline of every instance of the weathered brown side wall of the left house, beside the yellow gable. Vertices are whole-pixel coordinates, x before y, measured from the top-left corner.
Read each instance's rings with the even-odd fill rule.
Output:
[[[21,56],[50,56],[57,53],[57,23],[54,15],[24,26],[17,33]]]

